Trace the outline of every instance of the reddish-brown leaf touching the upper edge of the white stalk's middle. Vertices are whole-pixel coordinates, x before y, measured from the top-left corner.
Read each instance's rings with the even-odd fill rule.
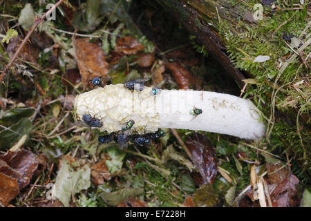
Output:
[[[180,89],[188,90],[190,84],[194,84],[195,79],[189,70],[178,64],[178,62],[166,63],[165,66],[171,70]]]

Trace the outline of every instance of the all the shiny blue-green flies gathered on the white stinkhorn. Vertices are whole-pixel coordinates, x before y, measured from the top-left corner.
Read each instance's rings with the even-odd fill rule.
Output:
[[[129,90],[138,90],[142,91],[144,90],[144,82],[148,81],[149,78],[144,79],[135,79],[131,81],[127,81],[124,84],[124,88],[127,88]],[[102,86],[102,78],[101,77],[94,77],[91,80],[91,84],[93,87],[95,86]],[[156,96],[160,93],[159,88],[153,88],[150,92],[151,95]],[[200,115],[202,113],[202,109],[193,108],[191,111],[189,111],[190,115],[193,115],[194,117]],[[89,127],[102,127],[102,121],[101,119],[96,118],[95,116],[91,116],[90,114],[84,114],[82,116],[82,121],[84,124],[86,124]],[[135,122],[133,119],[130,119],[129,122],[126,122],[124,126],[122,127],[121,131],[110,133],[109,135],[102,135],[98,137],[98,141],[101,144],[109,144],[110,142],[116,142],[119,144],[120,148],[123,148],[127,142],[131,141],[134,144],[143,145],[143,144],[149,144],[151,140],[158,139],[162,136],[164,136],[164,131],[156,131],[154,133],[145,133],[142,135],[129,135],[128,131],[131,130]]]

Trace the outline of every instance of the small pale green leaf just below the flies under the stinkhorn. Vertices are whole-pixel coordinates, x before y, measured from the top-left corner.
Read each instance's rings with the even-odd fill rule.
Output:
[[[110,173],[115,173],[122,169],[123,159],[126,153],[120,151],[118,148],[110,148],[107,153],[111,160],[106,160],[106,166]]]

